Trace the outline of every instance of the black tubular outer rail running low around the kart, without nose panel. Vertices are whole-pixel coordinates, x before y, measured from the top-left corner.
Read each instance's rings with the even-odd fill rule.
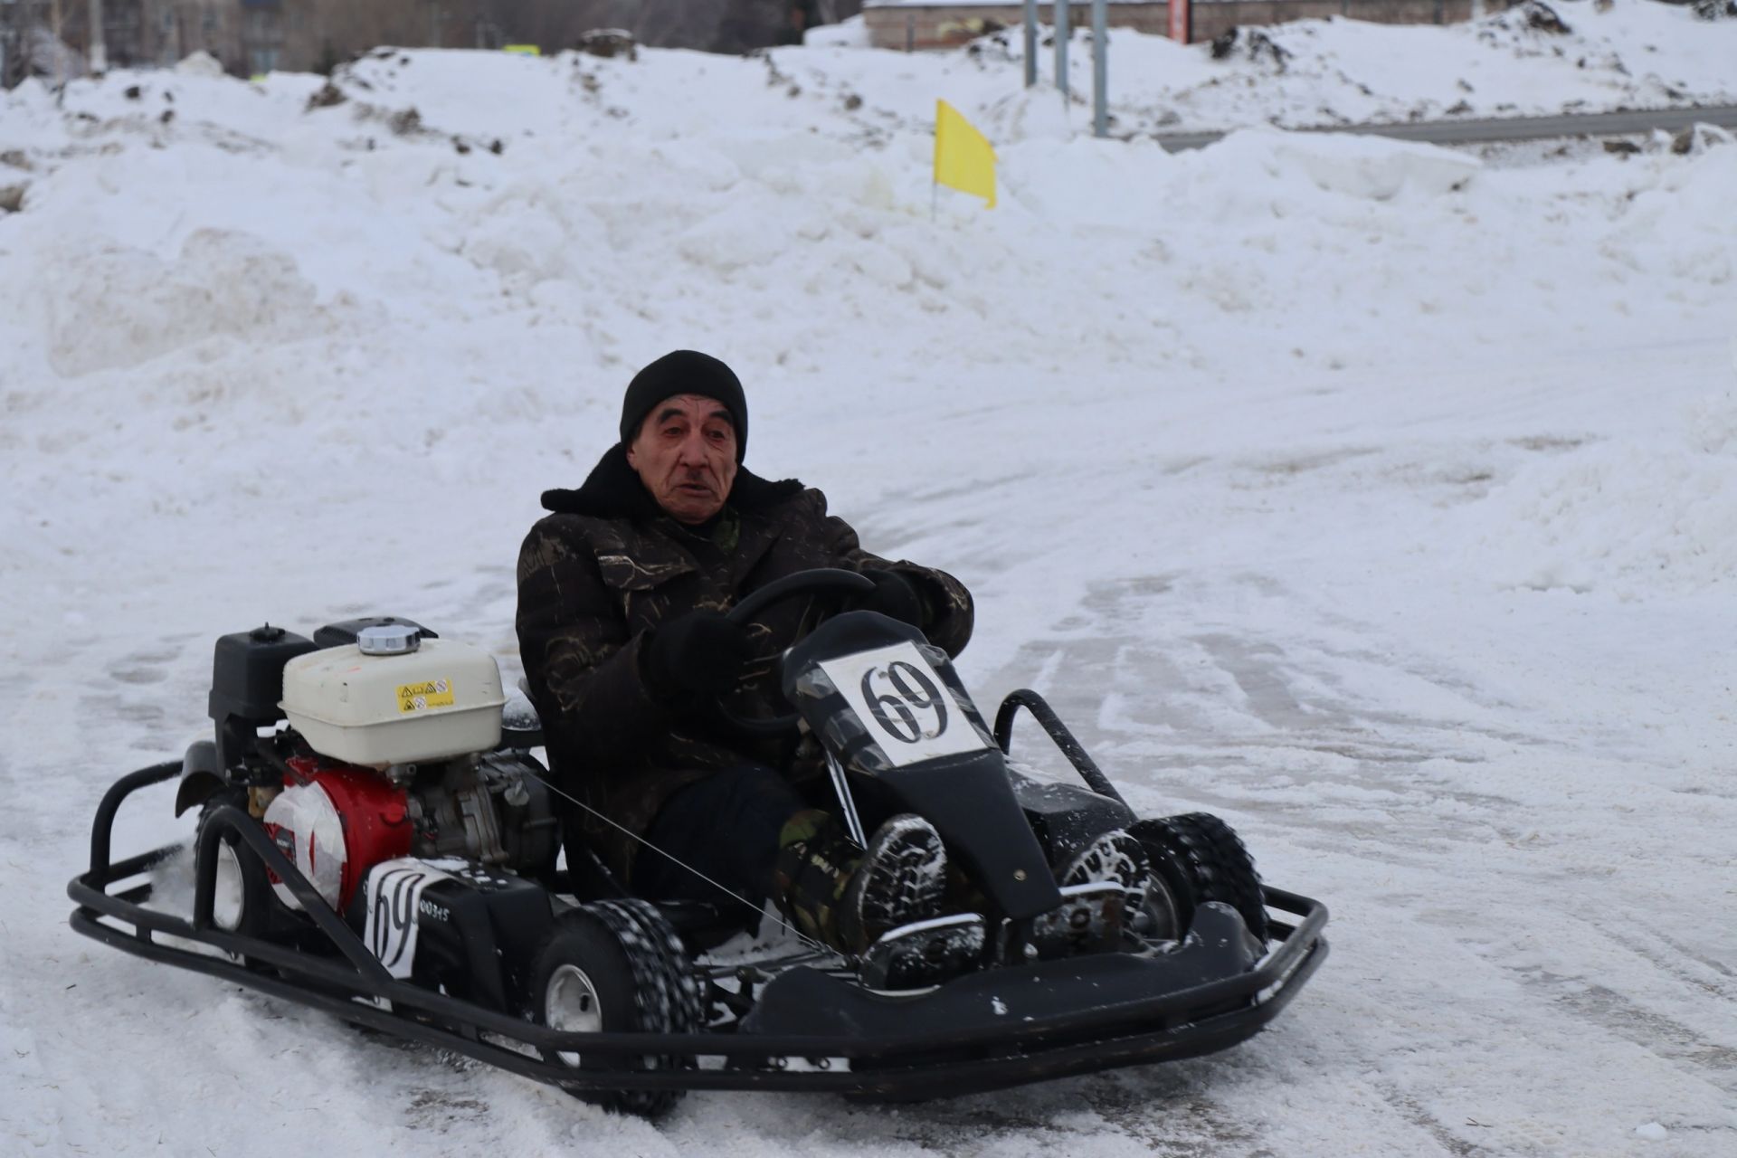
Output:
[[[1327,910],[1318,901],[1266,889],[1266,903],[1301,917],[1296,925],[1273,922],[1284,941],[1249,972],[1190,990],[1077,1014],[1044,1017],[1016,1026],[941,1030],[905,1036],[832,1038],[816,1035],[714,1033],[585,1033],[558,1031],[493,1012],[433,990],[393,979],[361,939],[339,918],[318,891],[283,856],[264,830],[236,807],[214,809],[200,833],[195,882],[195,920],[142,906],[149,882],[122,892],[109,885],[137,877],[174,856],[182,845],[109,861],[111,828],[122,800],[181,771],[179,762],[139,769],[116,781],[92,821],[90,868],[68,884],[78,905],[71,927],[118,950],[203,972],[273,997],[311,1005],[342,1021],[450,1049],[538,1082],[585,1090],[712,1089],[811,1090],[860,1097],[924,1099],[1002,1089],[1042,1078],[1089,1073],[1150,1061],[1195,1057],[1242,1042],[1278,1016],[1303,983],[1320,967],[1327,941],[1320,936]],[[344,958],[318,957],[295,948],[224,932],[210,924],[217,858],[212,842],[233,832],[304,903]],[[108,920],[104,920],[108,918]],[[328,920],[327,920],[328,918]],[[132,931],[109,922],[127,922]],[[238,960],[212,957],[156,941],[153,934],[182,938],[222,953],[248,957],[281,969],[287,977],[261,972]],[[295,977],[295,979],[290,979]],[[380,1003],[389,1002],[391,1009]],[[1226,1005],[1235,1005],[1226,1009]],[[1204,1010],[1216,1010],[1202,1016]],[[1133,1031],[1131,1031],[1133,1030]],[[1080,1040],[1086,1033],[1103,1036]],[[518,1042],[542,1057],[486,1040]],[[1061,1038],[1060,1042],[1056,1038]],[[575,1069],[554,1054],[622,1059],[693,1056],[723,1059],[726,1068]],[[969,1052],[968,1057],[922,1059],[922,1054]],[[917,1057],[912,1057],[917,1056]],[[874,1069],[787,1069],[789,1059],[822,1064],[842,1057],[874,1063]],[[731,1063],[747,1068],[731,1068]]]

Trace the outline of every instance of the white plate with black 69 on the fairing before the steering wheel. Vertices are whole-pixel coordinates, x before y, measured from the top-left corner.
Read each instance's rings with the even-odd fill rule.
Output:
[[[895,766],[988,747],[915,644],[822,660],[820,668]]]

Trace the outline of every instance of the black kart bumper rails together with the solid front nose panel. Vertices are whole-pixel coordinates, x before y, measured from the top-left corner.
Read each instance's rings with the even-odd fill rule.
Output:
[[[90,868],[68,885],[76,932],[568,1089],[809,1090],[917,1101],[1195,1057],[1258,1033],[1327,957],[1325,906],[1270,887],[1268,908],[1298,920],[1273,920],[1266,957],[1247,969],[1238,962],[1226,976],[1212,972],[1216,960],[1223,964],[1214,955],[1216,934],[1230,936],[1223,922],[1240,924],[1207,906],[1197,917],[1197,932],[1205,936],[1169,958],[1101,955],[1007,967],[919,997],[870,995],[827,974],[792,970],[766,988],[764,997],[776,1000],[740,1031],[561,1033],[389,977],[264,832],[234,823],[240,814],[226,823],[222,811],[214,813],[201,842],[210,845],[226,830],[245,840],[302,896],[332,953],[217,929],[210,920],[210,847],[198,856],[193,920],[146,908],[149,882],[111,892],[177,851],[172,845],[120,863],[108,856],[120,802],[175,773],[179,762],[142,769],[104,797],[92,826]],[[997,1012],[997,1003],[1007,1012]],[[806,1016],[794,1021],[797,1012]],[[804,1031],[785,1031],[790,1024]],[[558,1052],[578,1052],[587,1066],[631,1066],[646,1056],[691,1057],[695,1064],[573,1069]]]

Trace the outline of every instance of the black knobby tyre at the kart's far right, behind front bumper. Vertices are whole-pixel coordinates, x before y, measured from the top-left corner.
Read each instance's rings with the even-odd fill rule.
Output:
[[[1155,884],[1162,882],[1172,901],[1178,936],[1193,925],[1200,905],[1219,901],[1266,944],[1261,875],[1230,825],[1211,813],[1185,813],[1138,821],[1129,832],[1146,847]]]

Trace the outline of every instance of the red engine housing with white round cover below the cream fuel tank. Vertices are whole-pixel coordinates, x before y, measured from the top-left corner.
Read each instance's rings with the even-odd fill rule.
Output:
[[[266,833],[328,905],[349,905],[380,861],[410,854],[413,825],[405,790],[370,767],[292,757],[283,792],[266,809]],[[278,896],[301,908],[273,877]]]

